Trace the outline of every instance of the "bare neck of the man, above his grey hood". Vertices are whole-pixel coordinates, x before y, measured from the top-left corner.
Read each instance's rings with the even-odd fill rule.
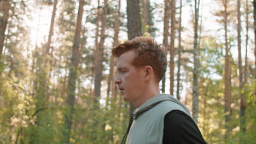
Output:
[[[155,95],[158,95],[159,93],[160,93],[159,83],[154,85],[149,85],[148,87],[145,87],[143,89],[141,96],[136,101],[134,101],[133,104],[137,108],[142,104],[144,104],[147,100],[153,98]]]

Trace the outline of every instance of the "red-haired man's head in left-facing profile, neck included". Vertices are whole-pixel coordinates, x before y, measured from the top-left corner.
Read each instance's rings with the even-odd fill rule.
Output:
[[[153,39],[136,37],[114,47],[112,54],[118,57],[114,81],[125,101],[139,106],[159,93],[159,81],[167,65],[163,47]]]

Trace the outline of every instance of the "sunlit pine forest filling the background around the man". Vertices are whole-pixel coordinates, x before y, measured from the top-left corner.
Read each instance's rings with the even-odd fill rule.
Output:
[[[115,45],[167,48],[161,93],[207,143],[256,142],[255,0],[0,0],[0,143],[120,143]]]

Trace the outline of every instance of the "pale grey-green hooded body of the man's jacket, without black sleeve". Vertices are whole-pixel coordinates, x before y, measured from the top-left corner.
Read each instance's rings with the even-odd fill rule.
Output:
[[[187,107],[169,94],[155,95],[139,106],[132,114],[126,144],[162,143],[164,118],[173,110],[185,112],[191,117]]]

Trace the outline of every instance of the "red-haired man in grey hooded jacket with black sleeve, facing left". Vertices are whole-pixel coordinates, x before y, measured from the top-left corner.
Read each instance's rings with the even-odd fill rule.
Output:
[[[171,95],[160,94],[165,51],[146,37],[125,41],[112,50],[118,57],[114,81],[123,99],[136,107],[122,143],[206,143],[187,107]]]

